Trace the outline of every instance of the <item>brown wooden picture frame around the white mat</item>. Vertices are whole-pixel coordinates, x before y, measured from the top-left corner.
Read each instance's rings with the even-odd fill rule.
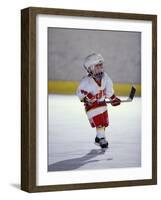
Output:
[[[36,18],[38,15],[147,21],[152,23],[152,166],[151,178],[84,182],[71,184],[37,185],[36,168]],[[148,70],[148,69],[147,69]],[[44,133],[45,134],[45,133]],[[45,192],[157,184],[157,16],[148,14],[97,12],[54,8],[29,7],[21,10],[21,189],[27,192]]]

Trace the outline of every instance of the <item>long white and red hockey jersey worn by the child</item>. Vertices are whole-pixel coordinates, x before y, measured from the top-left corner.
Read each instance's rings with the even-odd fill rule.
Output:
[[[96,127],[96,124],[93,124],[93,119],[97,116],[101,116],[102,114],[106,115],[107,121],[105,124],[101,125],[108,125],[108,113],[105,99],[110,98],[113,94],[114,90],[112,80],[105,72],[101,79],[100,85],[92,78],[92,76],[85,76],[81,80],[77,89],[77,96],[79,97],[80,101],[83,101],[83,99],[87,97],[93,102],[90,105],[85,103],[86,113],[92,127]]]

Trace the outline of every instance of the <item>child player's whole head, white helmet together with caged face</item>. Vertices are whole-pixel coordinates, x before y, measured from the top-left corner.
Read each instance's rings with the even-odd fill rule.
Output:
[[[101,79],[103,76],[103,63],[103,57],[100,54],[93,53],[85,58],[84,68],[92,77]]]

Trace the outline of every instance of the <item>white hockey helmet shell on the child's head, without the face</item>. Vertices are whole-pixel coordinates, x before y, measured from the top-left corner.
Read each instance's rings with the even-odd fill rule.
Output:
[[[92,53],[85,58],[83,66],[87,70],[87,72],[91,73],[95,65],[103,63],[104,59],[101,54]]]

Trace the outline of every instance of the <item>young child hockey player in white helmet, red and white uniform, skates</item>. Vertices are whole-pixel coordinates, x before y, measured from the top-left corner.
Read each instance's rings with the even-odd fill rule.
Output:
[[[121,101],[114,94],[112,80],[104,72],[103,64],[100,54],[93,53],[85,58],[83,66],[88,74],[81,80],[77,96],[84,103],[91,126],[96,128],[95,143],[104,149],[108,148],[105,128],[109,125],[105,99],[110,99],[112,106],[120,105]]]

